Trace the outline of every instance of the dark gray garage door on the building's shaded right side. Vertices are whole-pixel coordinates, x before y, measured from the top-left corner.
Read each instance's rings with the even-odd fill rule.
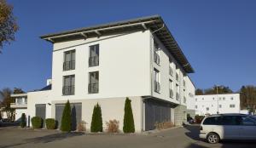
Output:
[[[154,129],[156,122],[171,121],[171,105],[159,100],[145,101],[145,130]]]

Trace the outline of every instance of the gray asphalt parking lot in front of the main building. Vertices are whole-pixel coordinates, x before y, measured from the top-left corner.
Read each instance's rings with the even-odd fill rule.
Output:
[[[256,141],[222,141],[208,144],[198,138],[199,127],[173,128],[151,134],[65,134],[56,130],[0,128],[0,147],[168,147],[168,148],[255,148]]]

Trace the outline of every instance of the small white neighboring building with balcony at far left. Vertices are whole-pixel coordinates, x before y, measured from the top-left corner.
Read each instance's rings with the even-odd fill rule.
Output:
[[[10,107],[15,109],[15,121],[20,121],[22,113],[27,114],[27,94],[11,94],[15,98],[15,103]]]

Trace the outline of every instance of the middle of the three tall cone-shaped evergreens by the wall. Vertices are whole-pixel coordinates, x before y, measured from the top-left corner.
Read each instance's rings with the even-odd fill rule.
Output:
[[[102,132],[102,108],[97,103],[94,106],[92,117],[91,117],[91,123],[90,123],[90,132],[96,133],[96,132]]]

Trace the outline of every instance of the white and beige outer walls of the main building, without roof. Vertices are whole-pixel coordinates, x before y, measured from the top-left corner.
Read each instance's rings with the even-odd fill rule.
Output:
[[[45,118],[57,118],[59,113],[56,107],[69,100],[71,103],[81,104],[81,120],[87,122],[86,128],[90,128],[93,107],[99,103],[102,107],[103,127],[106,126],[105,122],[116,119],[119,121],[121,130],[125,98],[129,97],[137,132],[149,129],[148,111],[151,111],[152,105],[159,105],[160,110],[167,111],[166,116],[170,116],[168,119],[174,122],[174,108],[177,105],[187,105],[195,94],[195,86],[183,70],[184,67],[177,62],[160,39],[150,29],[113,32],[108,35],[95,32],[99,35],[98,37],[87,37],[83,34],[86,39],[53,43],[51,88],[27,94],[27,116],[36,116],[36,106],[44,105]],[[53,41],[55,38],[45,39]],[[154,61],[155,43],[159,45],[157,52],[160,62],[158,64]],[[99,64],[96,66],[89,66],[91,46],[99,48]],[[67,54],[65,53],[70,51],[73,52],[73,70],[66,71],[63,68],[66,66],[64,62]],[[173,74],[170,74],[170,65]],[[158,92],[155,91],[154,70],[159,71]],[[96,83],[98,89],[96,93],[91,93],[90,72],[95,71],[98,72]],[[69,95],[63,93],[63,90],[66,91],[66,86],[64,87],[67,83],[66,76],[72,76],[70,79],[67,78],[71,83],[71,87],[67,88],[72,92]],[[184,83],[187,85],[184,86]],[[172,96],[170,89],[173,92]],[[150,120],[149,122],[152,122]],[[182,121],[177,123],[181,124]]]

